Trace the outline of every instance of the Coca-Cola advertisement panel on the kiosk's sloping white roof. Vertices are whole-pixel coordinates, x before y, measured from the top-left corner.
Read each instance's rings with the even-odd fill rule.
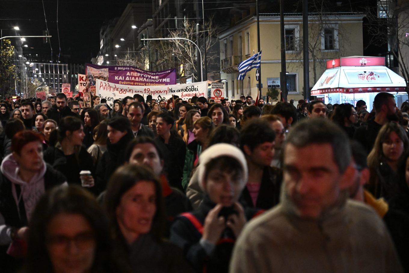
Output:
[[[377,86],[378,83],[392,83],[391,78],[386,69],[374,70],[344,70],[348,83],[372,83],[372,86]]]

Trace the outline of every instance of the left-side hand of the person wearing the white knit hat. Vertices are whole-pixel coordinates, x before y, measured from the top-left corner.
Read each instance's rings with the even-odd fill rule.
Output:
[[[226,228],[225,217],[218,217],[222,205],[217,204],[206,216],[205,226],[203,227],[203,239],[216,245],[219,241],[222,231]]]

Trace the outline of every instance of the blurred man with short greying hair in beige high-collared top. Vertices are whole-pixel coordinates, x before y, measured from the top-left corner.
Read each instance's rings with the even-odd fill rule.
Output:
[[[245,227],[230,272],[403,272],[382,219],[348,199],[354,176],[341,128],[299,122],[284,147],[280,203]]]

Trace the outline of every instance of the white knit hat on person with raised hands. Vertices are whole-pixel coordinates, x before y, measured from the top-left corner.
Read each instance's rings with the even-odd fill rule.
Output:
[[[243,180],[242,185],[240,187],[243,189],[247,184],[248,179],[248,170],[247,170],[247,162],[243,152],[238,149],[237,147],[226,144],[226,143],[219,143],[214,144],[207,148],[199,157],[199,166],[198,166],[198,179],[200,188],[205,191],[205,173],[206,173],[206,164],[214,159],[219,158],[221,156],[229,156],[231,158],[236,159],[242,169],[243,169]]]

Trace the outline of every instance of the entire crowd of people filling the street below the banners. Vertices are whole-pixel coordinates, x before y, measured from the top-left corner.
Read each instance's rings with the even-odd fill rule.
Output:
[[[0,102],[0,271],[409,272],[409,103]]]

